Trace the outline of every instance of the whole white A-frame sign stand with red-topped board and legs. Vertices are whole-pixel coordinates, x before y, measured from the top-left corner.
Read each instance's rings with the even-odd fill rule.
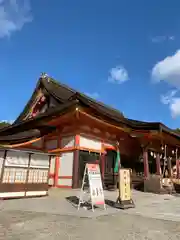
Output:
[[[88,180],[88,190],[85,192],[86,179]],[[99,164],[86,164],[84,169],[83,182],[81,186],[81,192],[79,197],[78,210],[81,204],[85,203],[84,195],[90,192],[90,202],[92,211],[94,212],[95,205],[103,205],[106,210],[104,192],[102,187],[101,173]]]

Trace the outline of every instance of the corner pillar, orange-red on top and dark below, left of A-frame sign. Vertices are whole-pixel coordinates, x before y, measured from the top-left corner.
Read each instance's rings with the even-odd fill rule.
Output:
[[[75,136],[75,151],[74,151],[74,161],[73,161],[73,183],[72,188],[78,188],[79,187],[79,141],[80,136]]]

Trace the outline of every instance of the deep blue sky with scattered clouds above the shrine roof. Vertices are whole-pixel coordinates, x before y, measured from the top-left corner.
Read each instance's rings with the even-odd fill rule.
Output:
[[[178,0],[0,0],[0,119],[41,72],[121,110],[180,127]]]

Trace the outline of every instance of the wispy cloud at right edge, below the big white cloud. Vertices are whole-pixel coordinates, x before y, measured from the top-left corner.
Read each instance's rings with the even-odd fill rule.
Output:
[[[180,97],[175,97],[177,90],[161,96],[161,102],[169,106],[173,118],[180,116]]]

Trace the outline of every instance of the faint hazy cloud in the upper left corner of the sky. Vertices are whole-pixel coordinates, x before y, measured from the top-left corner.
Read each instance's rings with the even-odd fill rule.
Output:
[[[0,38],[10,37],[31,21],[29,0],[0,0]]]

